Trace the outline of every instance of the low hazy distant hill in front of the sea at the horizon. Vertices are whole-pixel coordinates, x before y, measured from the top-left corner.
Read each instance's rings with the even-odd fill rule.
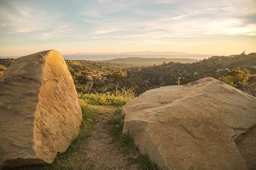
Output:
[[[139,57],[130,57],[130,58],[115,58],[113,60],[103,60],[98,62],[108,62],[108,63],[127,63],[135,65],[154,65],[154,64],[163,64],[163,62],[180,62],[180,63],[194,63],[198,60],[189,59],[189,58],[139,58]]]

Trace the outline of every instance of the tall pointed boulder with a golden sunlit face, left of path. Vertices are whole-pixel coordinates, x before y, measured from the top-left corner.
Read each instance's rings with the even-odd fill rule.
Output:
[[[18,58],[0,78],[0,165],[50,164],[77,137],[81,118],[60,52]]]

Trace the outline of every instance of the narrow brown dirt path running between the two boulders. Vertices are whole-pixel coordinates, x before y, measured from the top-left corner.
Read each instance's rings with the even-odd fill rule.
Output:
[[[79,167],[87,170],[138,170],[129,164],[129,157],[122,152],[118,142],[114,142],[108,125],[109,114],[99,115],[90,137],[74,157],[79,160]],[[91,167],[91,168],[88,168]]]

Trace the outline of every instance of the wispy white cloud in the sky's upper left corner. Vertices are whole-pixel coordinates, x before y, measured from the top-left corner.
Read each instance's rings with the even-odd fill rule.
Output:
[[[25,2],[2,6],[0,31],[6,34],[27,34],[38,39],[64,36],[74,30],[72,24],[61,19],[61,12],[50,12]]]

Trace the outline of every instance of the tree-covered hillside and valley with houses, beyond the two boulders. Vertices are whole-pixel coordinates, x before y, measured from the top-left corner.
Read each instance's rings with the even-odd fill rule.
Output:
[[[167,60],[167,61],[164,61]],[[169,62],[169,61],[179,61]],[[212,56],[202,61],[182,63],[180,58],[117,58],[109,61],[66,60],[78,92],[108,92],[124,87],[135,88],[141,94],[148,89],[160,86],[187,84],[204,77],[218,79],[228,69],[245,68],[256,73],[256,53],[249,55]],[[0,63],[8,67],[15,59],[0,58]],[[112,62],[111,62],[112,61]],[[118,63],[120,62],[120,63]],[[160,64],[151,66],[150,62]],[[163,63],[165,62],[165,63]],[[5,67],[0,70],[3,75]]]

